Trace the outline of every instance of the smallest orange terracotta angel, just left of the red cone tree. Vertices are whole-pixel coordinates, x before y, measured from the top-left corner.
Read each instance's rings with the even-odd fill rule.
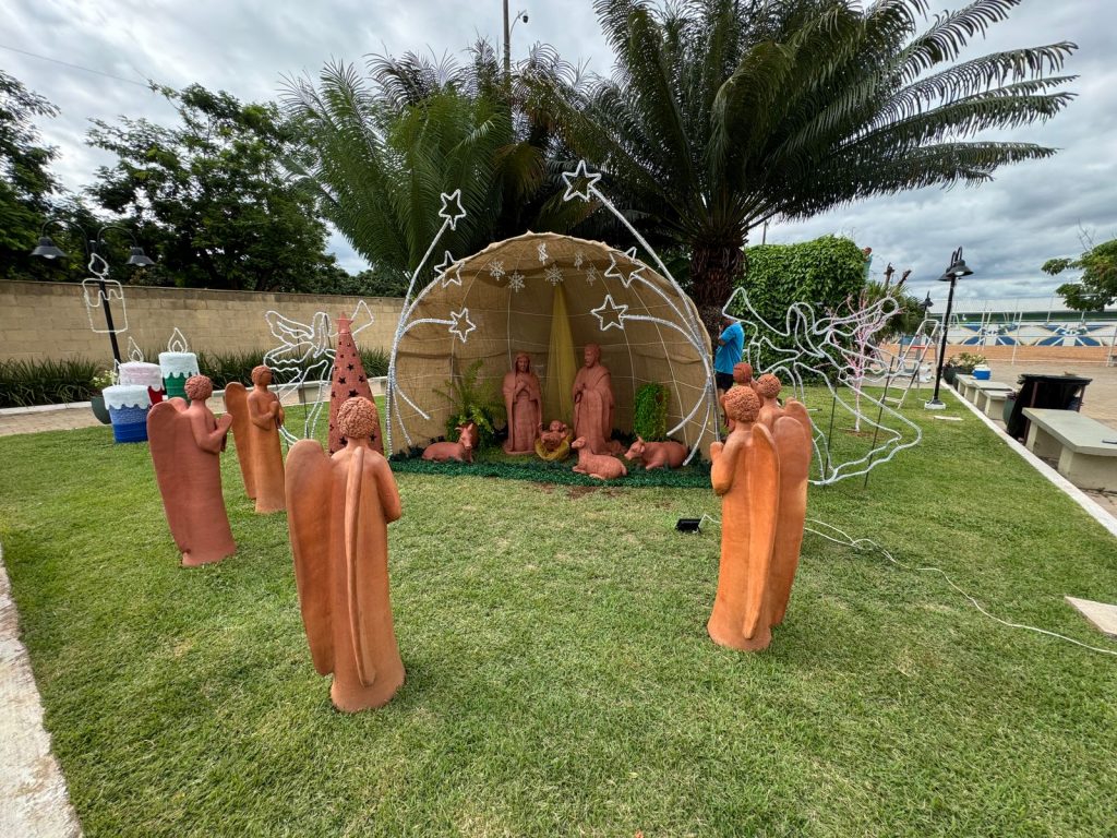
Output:
[[[245,491],[256,501],[260,513],[286,508],[283,480],[283,447],[279,428],[284,410],[279,397],[268,390],[271,369],[260,364],[252,369],[252,391],[239,381],[226,384],[225,404],[232,415],[232,436],[237,441],[237,459]]]

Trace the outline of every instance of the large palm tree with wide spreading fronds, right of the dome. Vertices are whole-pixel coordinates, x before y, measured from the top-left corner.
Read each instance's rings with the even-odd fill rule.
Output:
[[[980,184],[1053,149],[976,139],[1072,98],[1060,41],[958,60],[1019,0],[926,18],[926,0],[596,0],[617,64],[590,91],[544,80],[567,144],[650,234],[690,258],[713,325],[748,231],[871,196]]]

